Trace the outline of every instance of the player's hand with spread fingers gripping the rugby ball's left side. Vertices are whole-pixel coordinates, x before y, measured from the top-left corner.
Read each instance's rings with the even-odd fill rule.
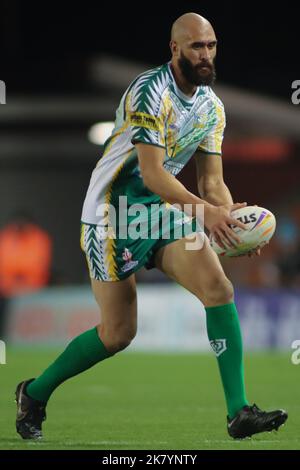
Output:
[[[232,225],[246,230],[246,225],[231,216],[231,212],[247,206],[246,202],[226,204],[224,206],[205,206],[204,224],[218,245],[227,249],[241,243],[241,239],[232,230]]]

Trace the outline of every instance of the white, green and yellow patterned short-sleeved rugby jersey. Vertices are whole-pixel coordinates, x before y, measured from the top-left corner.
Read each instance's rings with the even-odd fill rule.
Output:
[[[100,204],[157,203],[161,198],[143,184],[135,143],[165,149],[164,168],[177,175],[195,151],[221,154],[225,128],[224,106],[208,86],[192,98],[176,85],[170,64],[139,75],[124,93],[115,127],[93,171],[82,221],[97,224]],[[199,156],[201,158],[201,154]]]

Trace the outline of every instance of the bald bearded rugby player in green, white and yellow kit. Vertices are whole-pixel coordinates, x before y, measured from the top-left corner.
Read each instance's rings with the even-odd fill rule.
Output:
[[[170,47],[172,60],[139,75],[124,93],[84,202],[81,246],[101,321],[38,378],[18,385],[16,425],[24,439],[42,436],[46,404],[62,382],[130,344],[134,273],[142,266],[161,270],[204,304],[230,436],[271,431],[287,419],[283,410],[263,412],[247,401],[233,287],[203,232],[204,223],[221,246],[232,246],[239,239],[231,225],[244,228],[230,215],[244,204],[233,204],[223,180],[225,113],[211,88],[216,35],[205,18],[187,13],[173,24]],[[201,197],[175,178],[192,157]]]

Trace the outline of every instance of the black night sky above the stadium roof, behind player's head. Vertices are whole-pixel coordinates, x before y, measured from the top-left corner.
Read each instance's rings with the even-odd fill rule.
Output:
[[[189,11],[215,28],[222,82],[289,99],[299,69],[296,2],[287,8],[269,1],[0,4],[1,78],[11,91],[86,90],[84,64],[103,52],[159,65],[170,57],[172,22]]]

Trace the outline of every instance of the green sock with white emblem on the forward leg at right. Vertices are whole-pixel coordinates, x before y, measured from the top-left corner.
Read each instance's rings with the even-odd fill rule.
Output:
[[[243,406],[248,405],[238,312],[234,303],[206,307],[205,310],[208,338],[218,359],[228,415],[233,418]]]

